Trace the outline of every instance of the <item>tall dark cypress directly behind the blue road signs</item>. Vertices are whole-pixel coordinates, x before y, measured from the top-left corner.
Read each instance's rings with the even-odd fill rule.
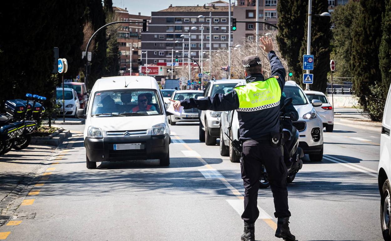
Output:
[[[311,20],[311,51],[314,55],[314,83],[310,85],[310,89],[314,91],[326,92],[327,73],[330,71],[330,39],[332,37],[330,30],[330,17],[314,16],[328,12],[327,0],[312,0],[312,20]],[[308,23],[307,23],[308,24]],[[305,29],[307,36],[307,29]],[[300,59],[303,54],[307,54],[307,37],[303,39],[301,46]],[[303,85],[302,81],[300,81]]]

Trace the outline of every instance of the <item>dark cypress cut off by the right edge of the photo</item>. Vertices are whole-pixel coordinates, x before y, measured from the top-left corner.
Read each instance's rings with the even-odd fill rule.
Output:
[[[387,97],[391,84],[391,0],[385,1],[385,11],[382,16],[383,36],[379,49],[379,64],[382,74],[382,89],[384,99]]]

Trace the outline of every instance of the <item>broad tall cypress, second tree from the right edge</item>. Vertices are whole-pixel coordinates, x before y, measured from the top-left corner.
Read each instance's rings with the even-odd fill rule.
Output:
[[[352,61],[353,88],[359,103],[368,110],[368,96],[371,86],[381,82],[379,69],[379,47],[382,38],[382,12],[384,2],[361,0],[361,8],[353,23]]]

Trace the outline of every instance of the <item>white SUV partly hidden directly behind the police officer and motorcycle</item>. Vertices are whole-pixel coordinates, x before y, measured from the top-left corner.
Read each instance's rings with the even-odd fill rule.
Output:
[[[292,104],[299,114],[298,121],[293,121],[294,127],[299,131],[299,146],[304,154],[308,154],[311,161],[321,161],[323,159],[323,123],[315,107],[320,106],[319,100],[310,102],[303,90],[294,81],[285,82],[283,89],[287,98],[292,97]],[[228,126],[231,121],[232,111],[224,111],[221,115],[222,131],[220,136],[220,153],[230,155],[231,162],[239,162],[240,155],[230,145],[228,137],[239,139],[239,121],[237,112],[234,113],[231,132],[228,133]],[[228,153],[227,153],[228,152]],[[224,156],[223,155],[223,156]]]

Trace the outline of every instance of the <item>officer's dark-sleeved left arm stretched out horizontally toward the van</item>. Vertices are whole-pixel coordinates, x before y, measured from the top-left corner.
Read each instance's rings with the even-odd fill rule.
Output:
[[[215,94],[213,97],[202,99],[189,98],[181,100],[184,109],[197,108],[199,110],[231,111],[239,108],[239,98],[236,91],[223,94]]]

